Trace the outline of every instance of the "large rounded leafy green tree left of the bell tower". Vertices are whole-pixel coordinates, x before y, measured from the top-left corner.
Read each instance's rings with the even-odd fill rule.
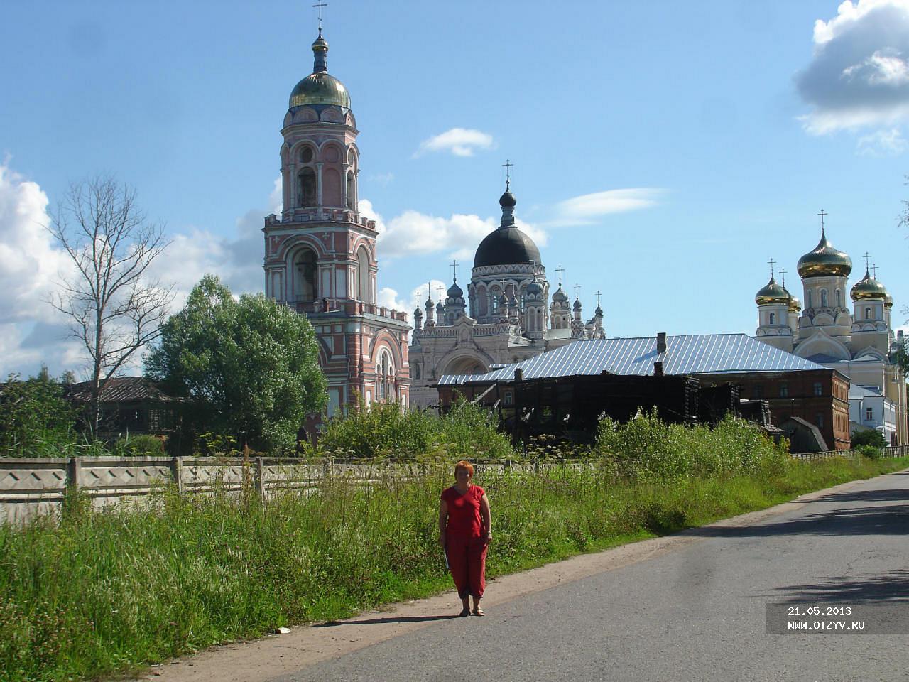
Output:
[[[261,294],[237,301],[210,275],[162,327],[145,374],[189,399],[196,429],[269,451],[294,447],[327,402],[309,321]]]

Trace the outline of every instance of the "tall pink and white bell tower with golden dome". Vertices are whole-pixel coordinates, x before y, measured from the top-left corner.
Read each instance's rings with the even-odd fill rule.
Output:
[[[376,305],[375,221],[357,211],[359,131],[345,85],[328,74],[321,30],[313,53],[281,129],[283,206],[265,217],[265,295],[314,326],[328,416],[360,399],[406,407],[411,327]]]

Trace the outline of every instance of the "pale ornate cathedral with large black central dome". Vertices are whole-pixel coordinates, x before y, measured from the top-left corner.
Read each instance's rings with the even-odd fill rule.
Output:
[[[502,222],[477,246],[466,296],[454,276],[445,301],[428,292],[414,311],[409,349],[411,403],[437,406],[443,375],[482,374],[578,339],[604,338],[603,309],[584,322],[561,279],[550,299],[549,281],[534,241],[514,223],[517,201],[506,183],[499,199]]]

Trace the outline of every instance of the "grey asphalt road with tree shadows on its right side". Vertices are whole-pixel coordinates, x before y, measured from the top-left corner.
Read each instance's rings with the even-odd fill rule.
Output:
[[[907,531],[909,471],[271,679],[909,680]],[[902,634],[767,634],[779,602],[871,604],[866,629]],[[906,617],[874,623],[881,605]]]

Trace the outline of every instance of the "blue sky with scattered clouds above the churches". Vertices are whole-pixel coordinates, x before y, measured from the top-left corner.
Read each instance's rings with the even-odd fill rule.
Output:
[[[86,178],[135,187],[165,224],[175,312],[206,273],[262,291],[312,4],[5,3],[0,376],[85,366],[47,303],[68,263],[44,226]],[[869,253],[894,326],[909,317],[909,0],[328,0],[323,25],[380,303],[412,313],[453,259],[469,279],[510,159],[550,282],[563,267],[585,318],[601,292],[607,336],[753,335],[771,258],[803,297],[821,209],[849,285]]]

